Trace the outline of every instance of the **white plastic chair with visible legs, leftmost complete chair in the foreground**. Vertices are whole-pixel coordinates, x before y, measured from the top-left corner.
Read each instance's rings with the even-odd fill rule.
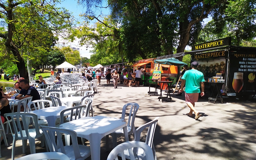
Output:
[[[12,132],[12,160],[14,159],[15,155],[15,144],[16,140],[22,140],[22,153],[26,153],[26,146],[27,146],[27,140],[29,141],[29,147],[30,147],[30,154],[36,153],[36,145],[35,145],[35,139],[43,136],[44,134],[39,129],[38,126],[38,118],[36,114],[33,113],[6,113],[4,116],[7,118],[8,116],[12,119],[12,126],[13,130]],[[34,128],[29,128],[28,125],[30,122],[30,118],[32,118],[34,125]],[[15,120],[17,119],[17,124],[15,123]],[[11,123],[9,122],[9,126],[11,128]],[[43,142],[44,137],[42,137]]]

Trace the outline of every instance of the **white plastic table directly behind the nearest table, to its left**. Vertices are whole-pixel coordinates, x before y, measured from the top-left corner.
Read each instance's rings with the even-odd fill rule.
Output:
[[[67,108],[70,108],[70,107],[66,107],[66,106],[48,107],[48,108],[30,111],[29,113],[35,113],[39,119],[47,120],[49,127],[55,127],[55,121],[57,118],[60,118],[60,112]],[[65,112],[64,116],[67,116],[69,114],[70,113]]]

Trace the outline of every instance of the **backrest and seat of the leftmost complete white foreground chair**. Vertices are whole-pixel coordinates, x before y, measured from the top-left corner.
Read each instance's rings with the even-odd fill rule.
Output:
[[[40,137],[43,134],[43,133],[40,133],[39,131],[38,118],[37,118],[37,115],[34,113],[6,113],[4,114],[4,116],[6,118],[11,117],[12,127],[11,127],[11,122],[8,121],[8,123],[11,128],[12,136],[13,137],[15,136],[16,140],[26,140],[29,137],[31,137],[28,131],[28,126],[31,118],[32,118],[32,121],[34,122],[33,126],[36,131],[36,135],[37,135],[36,137]],[[14,132],[12,131],[12,128]],[[29,129],[31,129],[31,127]],[[18,132],[20,134],[18,134]]]

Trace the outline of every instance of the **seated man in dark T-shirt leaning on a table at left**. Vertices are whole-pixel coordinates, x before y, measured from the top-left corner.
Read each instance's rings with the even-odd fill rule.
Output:
[[[15,99],[22,100],[24,98],[33,96],[32,101],[40,100],[40,95],[39,95],[38,91],[36,90],[36,88],[29,85],[29,81],[27,79],[23,79],[20,81],[20,87],[22,88],[20,91],[20,94],[17,95],[15,97]],[[24,96],[24,97],[22,97],[22,96]],[[14,111],[16,111],[15,109],[14,109]],[[24,108],[21,107],[20,111],[24,111]]]

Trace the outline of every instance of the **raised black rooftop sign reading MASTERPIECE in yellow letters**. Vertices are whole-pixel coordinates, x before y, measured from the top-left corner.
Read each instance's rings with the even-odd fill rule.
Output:
[[[227,37],[227,38],[217,39],[217,40],[202,43],[202,44],[193,45],[192,51],[221,47],[221,46],[226,46],[230,44],[231,44],[231,37]]]

